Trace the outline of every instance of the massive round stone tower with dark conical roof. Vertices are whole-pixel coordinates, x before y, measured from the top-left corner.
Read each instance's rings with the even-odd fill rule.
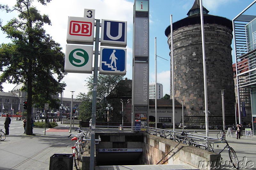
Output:
[[[235,91],[232,70],[232,21],[204,13],[209,125],[222,125],[222,96],[226,124],[235,123]],[[184,100],[184,122],[205,123],[204,72],[199,0],[188,11],[188,17],[173,23],[174,93],[180,103]],[[171,29],[165,35],[171,49]],[[171,52],[170,52],[171,55]],[[172,64],[171,64],[172,67]],[[172,69],[171,69],[172,75]],[[172,76],[171,81],[172,82]],[[171,86],[172,96],[172,86]]]

